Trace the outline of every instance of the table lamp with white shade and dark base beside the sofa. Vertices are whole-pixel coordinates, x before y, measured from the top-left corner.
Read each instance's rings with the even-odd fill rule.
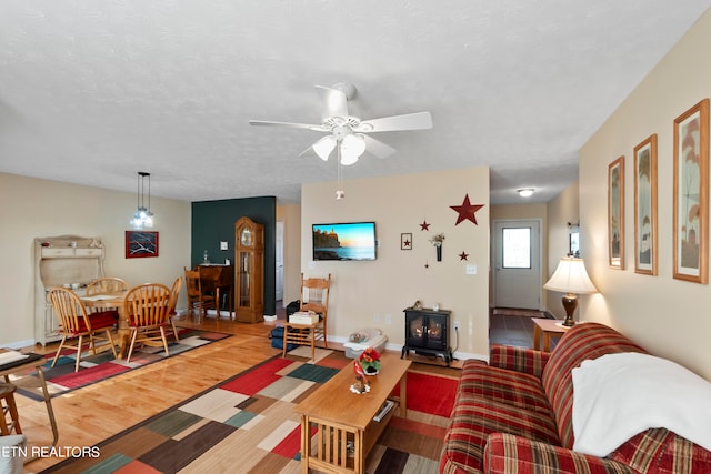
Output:
[[[573,313],[578,307],[578,294],[597,293],[598,289],[590,281],[585,264],[582,259],[572,256],[563,256],[558,263],[558,268],[553,272],[553,276],[543,285],[545,290],[559,291],[565,293],[563,295],[563,307],[565,309],[564,326],[573,326]]]

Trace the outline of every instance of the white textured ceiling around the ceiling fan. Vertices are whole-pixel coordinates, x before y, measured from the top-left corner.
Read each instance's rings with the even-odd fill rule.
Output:
[[[430,111],[383,132],[398,153],[351,178],[491,167],[491,202],[545,202],[578,150],[711,0],[3,0],[0,171],[187,201],[332,181],[299,158],[321,134],[313,85],[358,88],[350,112]]]

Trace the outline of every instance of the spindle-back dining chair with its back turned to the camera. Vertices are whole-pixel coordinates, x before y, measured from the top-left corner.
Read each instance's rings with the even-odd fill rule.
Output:
[[[166,325],[170,309],[170,289],[160,283],[134,286],[126,295],[124,305],[131,331],[131,344],[126,362],[131,362],[131,355],[138,343],[144,345],[162,343],[168,355]]]

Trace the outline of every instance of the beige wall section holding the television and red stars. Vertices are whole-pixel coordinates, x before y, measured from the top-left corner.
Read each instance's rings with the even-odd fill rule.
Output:
[[[341,201],[333,196],[334,182],[304,184],[301,192],[302,269],[308,275],[331,273],[333,279],[329,334],[346,340],[358,330],[380,327],[390,346],[399,347],[404,339],[402,311],[420,300],[425,307],[439,303],[452,311],[452,321],[460,321],[459,356],[487,357],[489,169],[352,180],[343,189]],[[478,225],[454,225],[457,213],[450,205],[460,205],[465,194],[472,204],[484,204],[475,214]],[[375,221],[375,261],[311,263],[312,224],[356,221]],[[431,224],[429,232],[421,230],[423,221]],[[445,240],[442,262],[437,262],[429,239],[440,232]],[[400,250],[401,233],[412,233],[412,250]],[[461,252],[469,254],[468,261],[460,260]],[[467,263],[477,264],[475,275],[464,274]]]

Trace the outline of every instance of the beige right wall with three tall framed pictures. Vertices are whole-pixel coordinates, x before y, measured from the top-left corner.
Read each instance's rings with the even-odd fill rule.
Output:
[[[600,294],[581,299],[585,320],[621,330],[651,352],[711,380],[711,290],[672,279],[673,121],[711,95],[711,11],[644,78],[582,148],[580,219],[585,264]],[[632,150],[658,134],[659,275],[634,273]],[[625,264],[608,266],[608,164],[625,157]]]

